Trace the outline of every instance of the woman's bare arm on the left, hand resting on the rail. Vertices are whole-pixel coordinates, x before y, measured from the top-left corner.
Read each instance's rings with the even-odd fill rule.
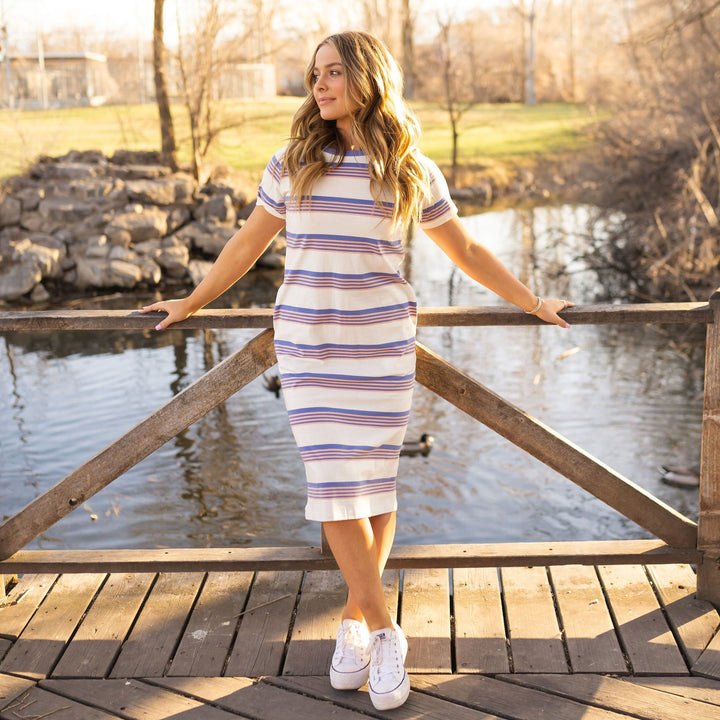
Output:
[[[158,323],[156,330],[163,330],[172,323],[190,317],[237,282],[255,264],[284,224],[284,220],[256,206],[245,224],[227,241],[210,272],[190,295],[146,305],[140,312],[168,314]]]

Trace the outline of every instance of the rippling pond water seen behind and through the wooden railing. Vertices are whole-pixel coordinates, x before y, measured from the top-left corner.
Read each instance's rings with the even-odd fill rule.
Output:
[[[594,300],[579,258],[589,208],[463,218],[542,295]],[[498,298],[424,235],[406,276],[422,305]],[[220,304],[270,304],[280,277],[253,273]],[[134,308],[147,298],[75,307]],[[257,331],[6,333],[0,336],[0,501],[8,517],[170,400]],[[697,491],[662,483],[661,464],[697,464],[703,328],[420,328],[418,339],[693,519]],[[271,370],[269,375],[272,375]],[[573,483],[416,387],[401,458],[397,542],[600,540],[648,533]],[[115,480],[29,547],[318,544],[304,519],[302,463],[284,404],[258,378]]]

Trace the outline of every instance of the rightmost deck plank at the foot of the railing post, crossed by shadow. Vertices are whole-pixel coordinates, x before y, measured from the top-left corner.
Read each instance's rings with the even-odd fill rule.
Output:
[[[720,626],[720,615],[709,602],[698,599],[697,577],[689,565],[650,565],[647,570],[692,666]]]

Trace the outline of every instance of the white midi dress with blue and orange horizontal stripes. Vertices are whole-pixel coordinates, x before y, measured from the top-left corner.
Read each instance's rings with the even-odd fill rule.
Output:
[[[397,509],[395,483],[415,383],[415,294],[400,272],[392,205],[370,191],[367,157],[350,151],[311,201],[291,199],[283,151],[265,169],[258,205],[285,220],[287,250],[273,323],[283,397],[307,477],[309,520]],[[457,214],[437,166],[420,227]]]

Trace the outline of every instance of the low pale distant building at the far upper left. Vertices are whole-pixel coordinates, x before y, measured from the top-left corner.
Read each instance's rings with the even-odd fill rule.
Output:
[[[52,52],[10,55],[8,73],[0,73],[3,104],[22,109],[102,105],[117,91],[105,55]]]

